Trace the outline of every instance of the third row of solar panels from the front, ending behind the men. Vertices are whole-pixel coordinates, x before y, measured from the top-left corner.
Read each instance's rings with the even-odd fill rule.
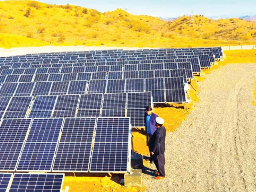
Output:
[[[143,127],[143,112],[152,106],[151,92],[0,97],[0,118],[131,117]],[[135,112],[135,109],[137,112]]]

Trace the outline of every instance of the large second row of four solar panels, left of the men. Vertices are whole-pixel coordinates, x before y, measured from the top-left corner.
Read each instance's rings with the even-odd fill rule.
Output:
[[[129,117],[2,119],[0,170],[129,172],[130,131]]]

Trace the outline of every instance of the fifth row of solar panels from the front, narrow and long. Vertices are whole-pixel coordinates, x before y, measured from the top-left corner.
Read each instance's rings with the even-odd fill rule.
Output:
[[[139,79],[139,78],[161,78],[180,77],[187,83],[187,74],[193,77],[191,70],[148,70],[148,71],[110,71],[93,73],[63,73],[63,74],[36,74],[36,75],[6,75],[0,76],[0,83],[26,83],[47,81],[80,81],[80,80],[103,80],[103,79]],[[1,94],[1,93],[0,93]]]

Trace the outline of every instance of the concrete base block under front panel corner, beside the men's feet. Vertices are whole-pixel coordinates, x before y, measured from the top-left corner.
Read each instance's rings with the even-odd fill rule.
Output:
[[[132,169],[131,173],[124,174],[124,186],[140,186],[141,185],[141,169]]]

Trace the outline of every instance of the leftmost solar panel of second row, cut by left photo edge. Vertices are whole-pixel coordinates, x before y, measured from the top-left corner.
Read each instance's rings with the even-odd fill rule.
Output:
[[[0,126],[0,170],[14,171],[31,119],[4,119]]]

